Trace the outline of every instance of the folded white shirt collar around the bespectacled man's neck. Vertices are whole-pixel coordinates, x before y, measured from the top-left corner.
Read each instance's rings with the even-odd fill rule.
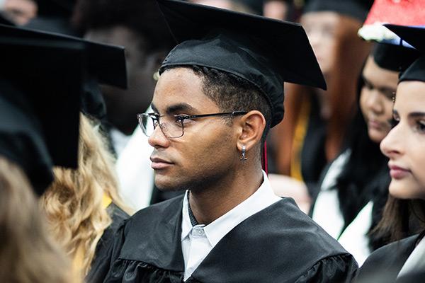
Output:
[[[188,191],[183,199],[183,218],[181,224],[181,240],[183,241],[192,230],[191,220],[188,213]],[[249,216],[260,212],[271,204],[281,200],[271,189],[266,173],[263,171],[263,183],[254,194],[241,202],[226,214],[212,221],[204,227],[205,235],[212,247],[231,231],[235,226],[247,219]]]

